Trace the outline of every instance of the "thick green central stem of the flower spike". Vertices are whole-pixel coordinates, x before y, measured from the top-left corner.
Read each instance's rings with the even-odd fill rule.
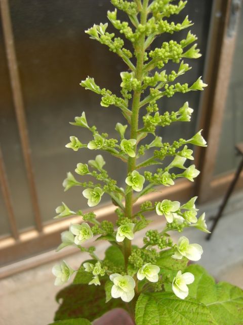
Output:
[[[147,21],[147,8],[148,0],[143,1],[143,8],[141,11],[141,24],[145,25]],[[143,33],[135,44],[135,52],[137,57],[137,65],[135,77],[138,81],[143,79],[143,62],[144,62],[144,42],[145,42],[145,33]],[[140,103],[141,91],[134,91],[133,94],[133,103],[132,103],[132,116],[131,116],[131,136],[130,139],[137,140],[137,131],[138,131],[138,118],[139,118],[139,103]],[[135,145],[135,152],[137,153],[137,145]],[[136,167],[136,156],[129,157],[128,159],[128,173],[131,173],[135,170]],[[126,195],[126,205],[125,205],[125,216],[131,218],[133,214],[133,191],[130,191]],[[131,255],[132,244],[129,239],[124,241],[124,257],[125,257],[125,266],[127,269],[128,257]]]

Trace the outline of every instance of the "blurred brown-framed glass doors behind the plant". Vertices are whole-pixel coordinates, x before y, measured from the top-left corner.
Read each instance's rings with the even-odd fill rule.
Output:
[[[127,68],[107,47],[84,33],[94,23],[107,21],[106,12],[113,8],[108,0],[0,0],[0,4],[0,277],[6,278],[62,257],[54,248],[70,218],[54,221],[55,208],[63,201],[71,210],[87,210],[80,189],[64,193],[62,181],[77,163],[86,163],[97,154],[65,148],[70,136],[83,143],[91,140],[85,129],[68,122],[85,111],[89,124],[110,137],[116,137],[116,122],[124,122],[117,108],[102,108],[100,96],[79,83],[89,75],[100,87],[119,95],[119,73]],[[192,84],[203,76],[209,86],[203,92],[176,94],[159,102],[161,111],[177,110],[185,101],[194,109],[191,123],[159,130],[164,141],[189,139],[204,129],[208,142],[207,149],[195,149],[195,165],[201,170],[195,182],[178,181],[159,195],[182,201],[197,195],[208,216],[217,211],[242,159],[235,151],[235,145],[243,142],[240,5],[240,0],[188,1],[176,20],[181,22],[189,15],[194,22],[190,29],[203,55],[188,61],[192,70],[179,81]],[[171,38],[179,41],[187,32],[163,35],[153,47]],[[166,69],[173,67],[170,64]],[[104,158],[110,176],[123,186],[124,164],[105,154]],[[241,173],[235,210],[242,202],[242,189]],[[102,199],[98,217],[114,219],[109,198]],[[153,200],[151,194],[149,199]]]

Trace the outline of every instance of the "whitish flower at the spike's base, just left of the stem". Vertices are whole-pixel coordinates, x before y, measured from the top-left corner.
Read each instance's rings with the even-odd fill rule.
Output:
[[[113,298],[121,298],[125,302],[130,302],[134,295],[135,281],[130,275],[120,275],[113,273],[110,280],[114,283],[111,288],[111,296]]]

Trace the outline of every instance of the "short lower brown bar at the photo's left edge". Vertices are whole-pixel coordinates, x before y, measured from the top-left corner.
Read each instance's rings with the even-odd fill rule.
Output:
[[[3,192],[4,202],[7,208],[11,232],[14,239],[18,240],[19,233],[18,233],[16,220],[14,216],[14,210],[11,202],[11,195],[10,195],[8,180],[5,172],[4,159],[3,159],[1,147],[0,147],[0,183]]]

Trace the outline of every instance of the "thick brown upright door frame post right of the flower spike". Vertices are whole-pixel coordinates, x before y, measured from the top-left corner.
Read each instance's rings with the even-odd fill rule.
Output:
[[[201,171],[196,184],[199,202],[219,197],[233,178],[233,173],[214,178],[237,35],[235,31],[229,34],[233,3],[234,0],[215,0],[213,4],[204,73],[204,81],[209,87],[201,97],[198,122],[198,128],[204,128],[208,142],[207,150],[199,148],[196,151],[196,162]],[[238,187],[242,186],[242,176],[241,174]]]

